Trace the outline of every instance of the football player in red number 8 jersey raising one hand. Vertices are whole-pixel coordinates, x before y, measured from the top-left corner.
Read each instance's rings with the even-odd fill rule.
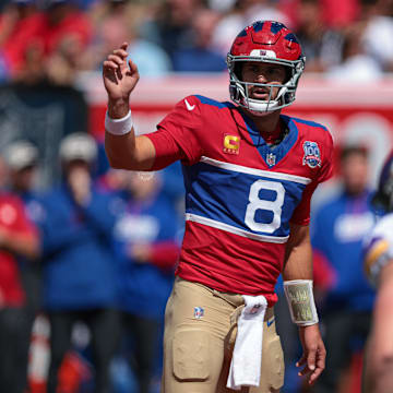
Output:
[[[281,109],[295,100],[305,57],[285,25],[259,21],[227,57],[233,103],[190,95],[135,136],[129,98],[139,73],[127,44],[104,61],[110,165],[157,170],[180,159],[186,234],[168,300],[163,392],[277,392],[284,366],[274,286],[283,272],[312,384],[324,369],[312,295],[310,199],[331,176],[332,138]],[[263,337],[263,340],[262,340]]]

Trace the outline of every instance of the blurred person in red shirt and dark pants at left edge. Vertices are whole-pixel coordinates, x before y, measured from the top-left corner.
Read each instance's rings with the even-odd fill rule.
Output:
[[[1,165],[4,165],[3,162]],[[33,260],[37,258],[38,249],[37,231],[26,216],[23,202],[15,194],[1,191],[0,386],[7,393],[23,393],[26,389],[29,336],[26,336],[26,296],[19,259],[24,257]]]

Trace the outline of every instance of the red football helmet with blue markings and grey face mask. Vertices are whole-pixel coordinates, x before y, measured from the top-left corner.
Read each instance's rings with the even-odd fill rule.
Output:
[[[263,61],[287,68],[284,84],[250,83],[241,80],[241,64],[245,61]],[[258,21],[243,28],[235,38],[227,56],[229,71],[230,99],[255,115],[290,105],[295,100],[299,78],[305,69],[306,58],[295,34],[283,23]],[[249,97],[248,85],[270,88],[267,100]],[[277,96],[272,97],[273,87],[279,87]]]

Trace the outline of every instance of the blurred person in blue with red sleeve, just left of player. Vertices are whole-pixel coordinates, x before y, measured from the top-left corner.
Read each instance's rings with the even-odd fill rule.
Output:
[[[115,226],[120,307],[126,336],[134,344],[131,365],[139,392],[148,393],[154,367],[162,358],[159,336],[179,253],[178,214],[172,201],[162,193],[158,174],[121,171],[121,176],[119,196],[124,210]]]

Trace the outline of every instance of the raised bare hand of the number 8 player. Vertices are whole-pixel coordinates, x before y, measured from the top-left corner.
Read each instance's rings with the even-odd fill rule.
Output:
[[[127,61],[127,47],[128,44],[123,43],[108,55],[103,64],[104,85],[112,100],[128,102],[140,79],[136,64],[131,60]]]

